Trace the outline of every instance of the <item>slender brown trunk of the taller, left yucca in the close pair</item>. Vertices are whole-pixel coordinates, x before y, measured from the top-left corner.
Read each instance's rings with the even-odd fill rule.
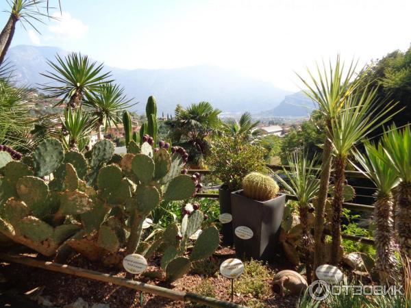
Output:
[[[321,162],[319,196],[315,204],[314,222],[314,269],[323,264],[324,259],[324,208],[327,201],[329,174],[331,172],[332,143],[325,137],[323,159]]]

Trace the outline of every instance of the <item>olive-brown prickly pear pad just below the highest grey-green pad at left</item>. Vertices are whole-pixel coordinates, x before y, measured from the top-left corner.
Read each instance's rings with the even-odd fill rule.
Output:
[[[16,183],[18,196],[27,204],[35,216],[41,216],[47,211],[47,196],[49,187],[38,177],[22,177]]]

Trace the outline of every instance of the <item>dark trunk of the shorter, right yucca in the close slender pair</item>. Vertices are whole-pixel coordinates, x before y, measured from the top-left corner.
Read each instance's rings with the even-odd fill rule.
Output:
[[[341,246],[341,212],[343,209],[343,188],[345,183],[345,157],[338,156],[335,162],[334,198],[332,201],[332,252],[331,262],[336,265],[339,260]]]

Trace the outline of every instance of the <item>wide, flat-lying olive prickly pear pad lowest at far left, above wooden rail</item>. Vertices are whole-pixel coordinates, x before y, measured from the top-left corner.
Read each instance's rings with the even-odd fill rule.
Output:
[[[14,229],[18,235],[23,235],[34,242],[42,242],[53,235],[53,227],[34,216],[19,220],[14,224]]]

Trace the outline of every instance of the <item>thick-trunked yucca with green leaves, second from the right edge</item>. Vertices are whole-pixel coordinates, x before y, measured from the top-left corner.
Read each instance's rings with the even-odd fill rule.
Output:
[[[365,154],[354,152],[356,160],[365,172],[364,175],[371,179],[377,187],[374,202],[374,220],[377,225],[375,230],[375,247],[377,260],[375,268],[379,272],[381,281],[389,281],[394,277],[396,267],[394,255],[394,224],[393,224],[393,194],[392,190],[398,183],[398,175],[388,161],[388,155],[382,144],[364,142]]]

